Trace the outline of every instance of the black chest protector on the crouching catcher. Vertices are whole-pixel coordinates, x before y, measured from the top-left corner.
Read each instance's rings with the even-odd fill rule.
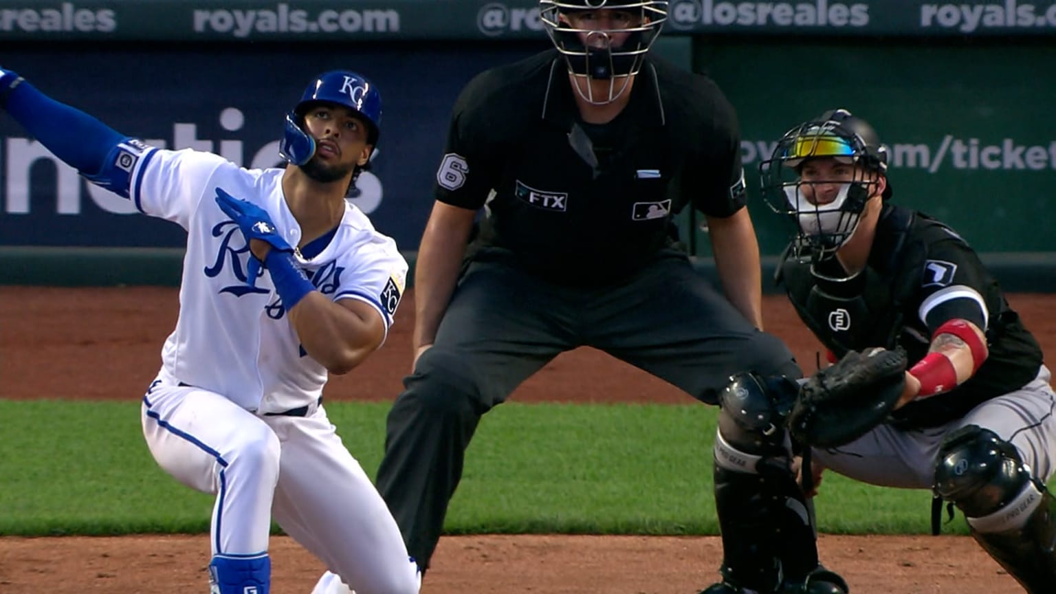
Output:
[[[786,285],[799,318],[836,357],[901,344],[905,308],[913,303],[925,256],[924,246],[908,239],[913,219],[901,208],[882,217],[869,261],[853,277],[840,278],[843,272],[834,258],[814,262],[795,244],[782,255],[778,282]]]

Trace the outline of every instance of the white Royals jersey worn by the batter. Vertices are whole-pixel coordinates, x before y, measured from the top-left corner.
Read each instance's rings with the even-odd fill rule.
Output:
[[[281,412],[318,401],[326,370],[307,356],[266,272],[246,284],[252,257],[239,226],[216,205],[216,188],[267,210],[278,233],[297,245],[301,228],[282,193],[282,169],[247,170],[212,153],[145,147],[129,196],[143,212],[188,231],[180,318],[162,351],[180,382],[222,394],[249,410]],[[297,254],[313,284],[331,299],[359,299],[388,329],[408,264],[395,242],[345,203],[334,238],[320,254]]]

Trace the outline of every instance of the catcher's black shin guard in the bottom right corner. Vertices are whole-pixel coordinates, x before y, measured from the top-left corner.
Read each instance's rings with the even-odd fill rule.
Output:
[[[935,490],[954,502],[972,536],[1027,592],[1056,584],[1056,501],[1011,443],[968,425],[943,440]]]

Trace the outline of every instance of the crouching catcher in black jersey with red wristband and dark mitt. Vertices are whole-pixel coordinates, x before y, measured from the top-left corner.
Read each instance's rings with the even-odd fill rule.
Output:
[[[794,403],[768,392],[813,458],[805,490],[823,468],[932,489],[935,532],[956,505],[1027,592],[1053,592],[1056,395],[998,283],[956,231],[890,202],[886,149],[846,110],[785,134],[760,174],[797,230],[777,279],[836,361]]]

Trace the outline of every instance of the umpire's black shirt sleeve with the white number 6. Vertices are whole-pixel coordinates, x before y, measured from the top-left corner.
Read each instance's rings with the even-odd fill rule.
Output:
[[[503,154],[489,123],[489,73],[463,89],[451,115],[447,146],[436,171],[436,200],[476,210],[484,206],[498,173]]]

